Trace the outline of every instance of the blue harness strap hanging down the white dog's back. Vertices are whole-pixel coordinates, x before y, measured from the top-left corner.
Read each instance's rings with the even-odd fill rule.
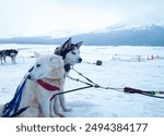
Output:
[[[9,103],[7,103],[2,118],[10,118],[11,114],[15,114],[17,112],[17,109],[22,99],[23,88],[24,88],[27,77],[28,77],[28,74],[25,75],[23,82],[16,88],[13,99]]]

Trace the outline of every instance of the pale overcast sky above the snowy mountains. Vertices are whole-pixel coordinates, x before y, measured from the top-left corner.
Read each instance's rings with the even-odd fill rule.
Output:
[[[58,29],[90,32],[128,18],[163,14],[164,0],[0,0],[0,37]]]

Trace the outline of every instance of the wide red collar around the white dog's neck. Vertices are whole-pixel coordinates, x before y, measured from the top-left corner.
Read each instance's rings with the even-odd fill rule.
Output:
[[[50,85],[50,84],[48,84],[42,79],[37,79],[36,82],[37,82],[37,84],[39,84],[42,87],[44,87],[45,89],[47,89],[49,91],[60,90],[59,87],[52,86],[52,85]]]

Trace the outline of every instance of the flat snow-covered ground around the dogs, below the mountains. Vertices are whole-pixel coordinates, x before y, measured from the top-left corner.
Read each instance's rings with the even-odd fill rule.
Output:
[[[0,64],[0,103],[10,101],[24,74],[34,64],[34,51],[52,53],[56,46],[47,45],[0,45],[1,49],[16,48],[16,64]],[[117,54],[117,55],[116,55]],[[157,57],[148,60],[148,55]],[[138,62],[140,55],[141,61]],[[164,47],[101,46],[81,47],[83,63],[75,70],[95,83],[106,87],[133,87],[145,90],[164,90]],[[103,65],[97,66],[97,60]],[[90,62],[90,63],[89,63]],[[70,75],[81,78],[75,72]],[[82,87],[80,83],[67,78],[65,90]],[[66,95],[67,103],[72,108],[67,112],[71,118],[151,118],[164,116],[164,100],[122,91],[90,88]]]

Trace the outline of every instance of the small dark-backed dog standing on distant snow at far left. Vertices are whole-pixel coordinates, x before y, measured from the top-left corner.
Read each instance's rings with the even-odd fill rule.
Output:
[[[4,62],[7,62],[5,58],[10,57],[12,63],[15,64],[16,63],[16,61],[15,61],[16,55],[17,55],[17,50],[15,50],[15,49],[2,50],[2,59],[3,59]]]

